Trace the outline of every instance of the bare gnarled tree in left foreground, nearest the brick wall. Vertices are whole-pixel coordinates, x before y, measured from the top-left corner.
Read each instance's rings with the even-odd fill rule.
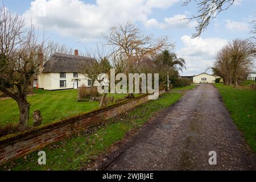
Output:
[[[0,10],[0,22],[0,90],[17,102],[19,129],[23,130],[29,119],[28,85],[38,72],[42,44],[38,44],[34,26],[24,28],[23,19],[5,7]]]

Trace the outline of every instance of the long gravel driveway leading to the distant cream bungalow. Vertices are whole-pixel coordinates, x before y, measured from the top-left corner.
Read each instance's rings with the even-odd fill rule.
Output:
[[[142,129],[107,170],[247,170],[255,154],[237,130],[218,90],[199,85]],[[217,164],[210,165],[209,151]]]

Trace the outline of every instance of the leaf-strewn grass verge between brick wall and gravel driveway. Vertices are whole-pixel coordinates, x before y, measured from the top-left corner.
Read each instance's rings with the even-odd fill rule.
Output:
[[[189,87],[186,89],[193,88]],[[125,137],[131,129],[142,127],[155,113],[177,102],[181,93],[172,92],[159,96],[126,113],[109,119],[105,125],[81,131],[72,137],[55,142],[42,150],[46,152],[46,165],[37,162],[38,151],[25,158],[13,160],[0,167],[1,170],[79,170],[104,154],[115,142]]]

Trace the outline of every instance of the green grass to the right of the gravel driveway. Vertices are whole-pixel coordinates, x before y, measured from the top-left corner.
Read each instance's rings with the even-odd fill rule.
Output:
[[[215,84],[247,143],[256,152],[256,91]]]

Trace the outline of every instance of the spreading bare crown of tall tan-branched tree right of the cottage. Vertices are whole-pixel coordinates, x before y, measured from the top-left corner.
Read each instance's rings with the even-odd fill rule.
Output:
[[[119,24],[110,28],[109,34],[104,35],[109,46],[113,47],[115,55],[122,56],[126,60],[126,68],[134,72],[142,57],[156,55],[166,48],[174,47],[168,43],[166,36],[154,39],[153,35],[146,36],[131,22]]]

